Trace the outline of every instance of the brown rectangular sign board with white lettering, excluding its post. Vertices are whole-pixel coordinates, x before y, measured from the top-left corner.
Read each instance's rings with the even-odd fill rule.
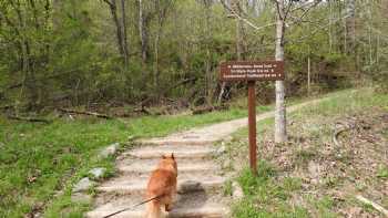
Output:
[[[231,61],[221,63],[221,81],[280,81],[283,61]]]

